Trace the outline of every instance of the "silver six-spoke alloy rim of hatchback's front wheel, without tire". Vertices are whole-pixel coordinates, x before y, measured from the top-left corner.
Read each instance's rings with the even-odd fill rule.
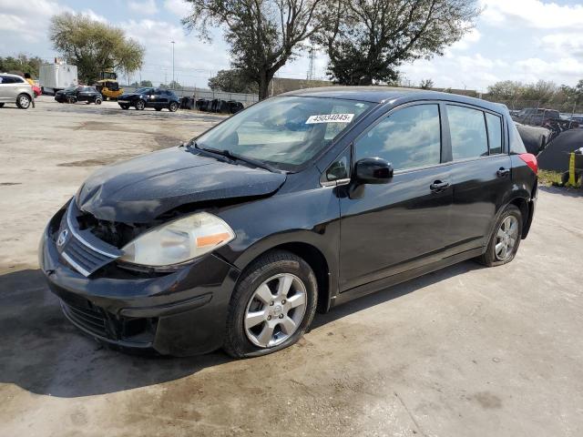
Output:
[[[297,276],[281,273],[263,281],[245,310],[247,338],[261,348],[281,344],[302,324],[306,305],[306,287]]]

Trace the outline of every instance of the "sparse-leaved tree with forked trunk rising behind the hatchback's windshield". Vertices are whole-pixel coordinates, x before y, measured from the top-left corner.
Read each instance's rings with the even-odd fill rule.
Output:
[[[275,73],[322,29],[332,0],[186,0],[192,12],[182,20],[210,40],[209,29],[225,29],[231,65],[268,97]]]

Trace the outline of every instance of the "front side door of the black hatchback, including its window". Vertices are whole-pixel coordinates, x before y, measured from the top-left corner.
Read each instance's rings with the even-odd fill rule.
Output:
[[[353,180],[340,199],[341,292],[442,258],[453,203],[442,143],[437,103],[398,108],[354,141],[353,163],[384,158],[394,177]]]

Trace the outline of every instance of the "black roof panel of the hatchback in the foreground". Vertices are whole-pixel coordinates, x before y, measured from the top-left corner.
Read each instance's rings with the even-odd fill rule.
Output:
[[[372,103],[384,103],[403,97],[415,97],[419,100],[449,100],[470,105],[477,105],[493,110],[500,110],[502,105],[475,97],[442,93],[418,88],[401,88],[392,86],[323,86],[321,88],[304,88],[290,91],[281,96],[327,97],[361,100]]]

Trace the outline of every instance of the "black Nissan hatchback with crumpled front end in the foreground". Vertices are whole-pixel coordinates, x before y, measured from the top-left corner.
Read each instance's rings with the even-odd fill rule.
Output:
[[[506,107],[307,89],[97,170],[39,258],[98,340],[250,357],[292,345],[317,309],[465,259],[511,261],[536,198],[537,160]]]

